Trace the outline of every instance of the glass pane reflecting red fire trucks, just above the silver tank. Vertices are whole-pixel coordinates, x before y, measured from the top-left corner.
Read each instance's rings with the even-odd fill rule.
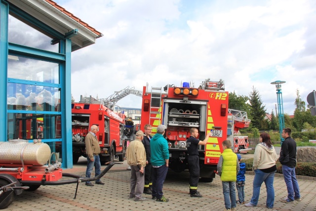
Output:
[[[8,114],[8,139],[61,138],[61,115]]]

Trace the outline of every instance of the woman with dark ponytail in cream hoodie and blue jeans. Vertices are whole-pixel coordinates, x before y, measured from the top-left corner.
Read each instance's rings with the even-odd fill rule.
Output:
[[[253,156],[252,170],[255,172],[253,179],[252,197],[246,207],[256,207],[259,200],[260,189],[263,182],[267,188],[267,201],[266,206],[272,209],[275,202],[275,189],[273,182],[276,173],[276,150],[273,147],[270,135],[266,132],[260,134],[260,143],[257,144]]]

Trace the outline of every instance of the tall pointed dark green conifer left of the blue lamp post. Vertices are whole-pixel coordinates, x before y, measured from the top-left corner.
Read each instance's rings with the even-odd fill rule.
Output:
[[[259,130],[265,129],[263,128],[264,117],[266,115],[265,106],[262,103],[261,96],[259,91],[252,86],[252,91],[249,93],[249,102],[250,102],[250,115],[251,125],[252,127],[256,127]]]

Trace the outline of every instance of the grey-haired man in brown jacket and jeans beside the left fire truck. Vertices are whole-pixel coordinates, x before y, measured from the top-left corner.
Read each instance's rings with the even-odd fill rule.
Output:
[[[90,132],[85,136],[85,152],[87,154],[87,170],[85,171],[85,175],[87,177],[91,177],[91,171],[93,167],[95,167],[95,176],[101,173],[101,163],[100,163],[100,145],[97,139],[96,133],[98,131],[98,126],[91,126]],[[95,184],[104,185],[101,182],[101,179],[95,181]],[[90,181],[85,182],[87,186],[94,186]]]

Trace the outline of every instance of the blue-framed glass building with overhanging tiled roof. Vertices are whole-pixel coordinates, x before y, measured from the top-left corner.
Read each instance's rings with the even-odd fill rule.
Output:
[[[30,5],[32,3],[35,7]],[[39,7],[37,8],[37,6]],[[45,14],[45,11],[40,8],[42,6],[48,7],[53,12]],[[32,14],[26,12],[30,11],[30,8],[33,9]],[[52,38],[49,44],[58,44],[58,52],[9,42],[8,22],[10,15]],[[40,15],[43,20],[40,20]],[[61,22],[52,24],[51,20],[53,18],[48,21],[44,20],[49,15],[54,16],[55,19],[60,18],[63,25],[54,29],[53,27],[61,24]],[[72,28],[74,24],[65,25],[65,22],[73,20],[69,17],[65,18],[64,15],[62,11],[59,11],[45,0],[1,0],[0,141],[19,137],[29,139],[29,141],[41,138],[42,142],[51,147],[51,151],[55,151],[57,148],[60,150],[63,168],[72,168],[71,53],[73,50],[93,44],[95,39],[101,37],[102,34],[93,33],[77,23],[78,27],[81,28],[80,34],[78,29]],[[75,36],[78,36],[79,39]],[[72,42],[72,39],[76,43]],[[79,42],[79,40],[83,41]],[[17,58],[16,60],[22,58],[25,61],[55,64],[57,70],[50,73],[52,75],[50,80],[37,80],[37,73],[33,74],[35,78],[21,78],[16,74],[8,74],[10,70],[8,61],[12,57]],[[27,75],[30,68],[32,67],[24,67],[24,75]],[[45,73],[42,73],[42,75],[45,76]],[[45,101],[46,98],[43,99],[45,97],[43,93],[51,95],[47,102]],[[24,97],[27,101],[28,98],[31,99],[31,95],[35,96],[38,101],[41,100],[41,102],[32,99],[31,103],[19,103],[18,96]],[[14,103],[9,102],[11,98],[15,99]],[[39,125],[44,130],[40,130]]]

